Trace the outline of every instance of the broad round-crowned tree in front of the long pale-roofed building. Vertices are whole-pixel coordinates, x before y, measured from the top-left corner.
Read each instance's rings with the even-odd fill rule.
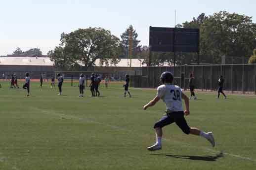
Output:
[[[49,51],[50,59],[55,66],[66,69],[76,66],[84,66],[85,69],[95,66],[95,61],[100,59],[101,64],[116,65],[120,54],[120,40],[110,31],[103,28],[78,29],[69,34],[61,34],[61,43],[54,51]],[[60,61],[61,59],[61,61]]]

